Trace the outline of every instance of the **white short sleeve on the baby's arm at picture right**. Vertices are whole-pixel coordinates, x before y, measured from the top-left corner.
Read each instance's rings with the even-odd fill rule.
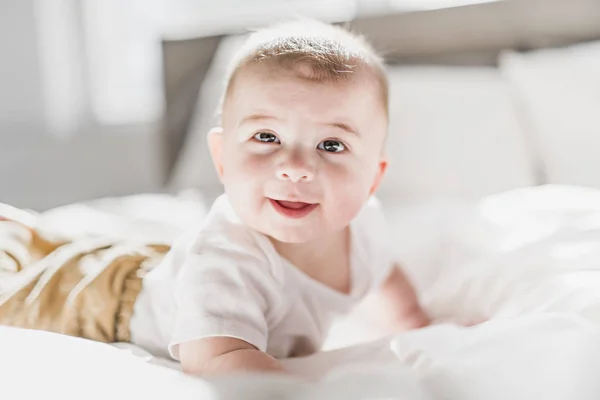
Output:
[[[358,235],[355,245],[360,258],[356,264],[363,269],[360,275],[368,276],[366,290],[373,291],[383,284],[396,262],[388,224],[377,198],[369,199],[354,224],[353,232]]]

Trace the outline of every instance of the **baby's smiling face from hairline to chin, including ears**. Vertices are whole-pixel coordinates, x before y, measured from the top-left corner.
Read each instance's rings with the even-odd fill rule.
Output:
[[[244,223],[287,243],[343,230],[385,171],[387,116],[374,79],[309,82],[240,71],[210,135],[215,166]]]

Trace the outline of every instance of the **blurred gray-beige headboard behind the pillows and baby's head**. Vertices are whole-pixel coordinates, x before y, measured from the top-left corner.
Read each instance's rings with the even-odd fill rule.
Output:
[[[600,38],[600,0],[503,0],[342,23],[365,35],[389,63],[494,65],[506,49],[530,51]],[[163,133],[170,168],[219,43],[239,33],[163,42]]]

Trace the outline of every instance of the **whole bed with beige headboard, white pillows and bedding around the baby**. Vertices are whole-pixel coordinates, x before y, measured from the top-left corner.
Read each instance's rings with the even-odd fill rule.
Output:
[[[65,399],[597,399],[598,21],[598,1],[506,0],[350,22],[390,61],[395,163],[380,199],[435,325],[381,336],[357,322],[357,310],[334,327],[326,351],[284,360],[294,376],[212,380],[127,344],[0,328],[0,370],[11,377],[3,390]],[[68,205],[45,212],[47,223],[70,221],[70,235],[118,227],[169,240],[200,220],[220,192],[203,134],[241,40],[223,32],[163,43],[165,156],[177,194]],[[473,321],[486,322],[465,326]]]

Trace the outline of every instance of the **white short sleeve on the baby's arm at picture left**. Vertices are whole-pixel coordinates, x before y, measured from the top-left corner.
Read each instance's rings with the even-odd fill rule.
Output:
[[[277,296],[274,279],[256,257],[220,249],[193,250],[175,286],[171,356],[179,360],[181,343],[219,336],[241,339],[265,351],[267,313]]]

